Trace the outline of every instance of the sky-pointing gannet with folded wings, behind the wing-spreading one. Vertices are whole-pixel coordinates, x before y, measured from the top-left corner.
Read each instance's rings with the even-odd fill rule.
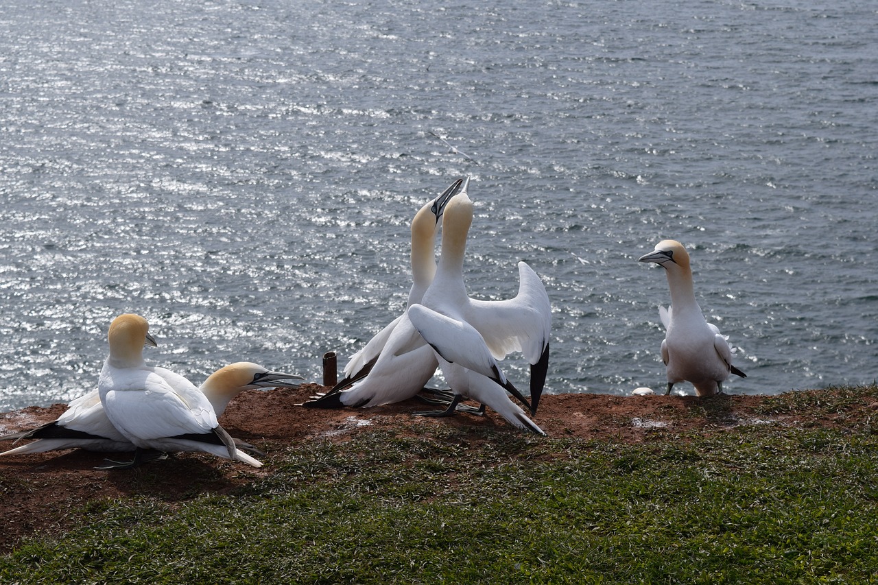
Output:
[[[415,213],[411,243],[412,287],[406,309],[350,358],[343,371],[344,379],[324,396],[306,402],[306,407],[373,407],[404,401],[418,394],[433,377],[439,364],[433,350],[408,320],[407,312],[408,307],[421,301],[433,282],[436,231],[448,202],[464,191],[468,182],[469,179],[458,179]],[[349,389],[343,389],[348,386]]]

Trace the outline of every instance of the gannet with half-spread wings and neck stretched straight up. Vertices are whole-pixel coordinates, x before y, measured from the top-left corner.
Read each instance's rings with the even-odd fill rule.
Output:
[[[451,199],[443,220],[442,254],[421,304],[408,310],[415,329],[435,350],[446,381],[455,394],[450,407],[428,415],[453,415],[457,402],[472,398],[491,407],[509,423],[543,433],[509,400],[505,388],[536,413],[549,365],[551,307],[536,272],[518,263],[519,289],[513,299],[474,300],[464,285],[464,252],[472,223],[466,191]],[[498,359],[522,351],[531,365],[530,404],[507,379]]]

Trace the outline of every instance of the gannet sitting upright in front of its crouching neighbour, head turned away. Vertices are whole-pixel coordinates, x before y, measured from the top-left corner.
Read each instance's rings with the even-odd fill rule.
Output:
[[[260,461],[235,447],[195,385],[174,372],[146,365],[143,344],[148,329],[140,315],[122,314],[107,335],[110,356],[97,392],[110,422],[137,449],[131,462],[103,468],[139,465],[144,451],[203,451],[261,467]]]

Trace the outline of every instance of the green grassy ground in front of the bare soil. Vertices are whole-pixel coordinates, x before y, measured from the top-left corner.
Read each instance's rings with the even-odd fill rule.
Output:
[[[835,423],[633,444],[415,420],[291,447],[231,496],[91,503],[0,582],[878,582],[878,431],[847,416],[874,400],[784,394],[766,418]]]

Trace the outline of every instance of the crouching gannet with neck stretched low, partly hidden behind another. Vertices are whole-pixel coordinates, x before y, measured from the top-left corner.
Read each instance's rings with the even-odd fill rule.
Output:
[[[147,336],[146,342],[147,345],[155,346],[152,336]],[[280,386],[296,388],[300,384],[294,381],[297,379],[303,378],[297,374],[272,372],[252,362],[236,362],[213,372],[199,389],[211,402],[216,415],[221,416],[226,412],[228,402],[244,390]],[[134,444],[110,422],[97,389],[71,401],[68,409],[52,423],[0,437],[0,441],[18,442],[21,439],[37,440],[4,451],[0,456],[77,448],[101,452],[126,452],[135,449]],[[238,442],[237,439],[235,441],[238,448],[255,451],[250,445]]]

